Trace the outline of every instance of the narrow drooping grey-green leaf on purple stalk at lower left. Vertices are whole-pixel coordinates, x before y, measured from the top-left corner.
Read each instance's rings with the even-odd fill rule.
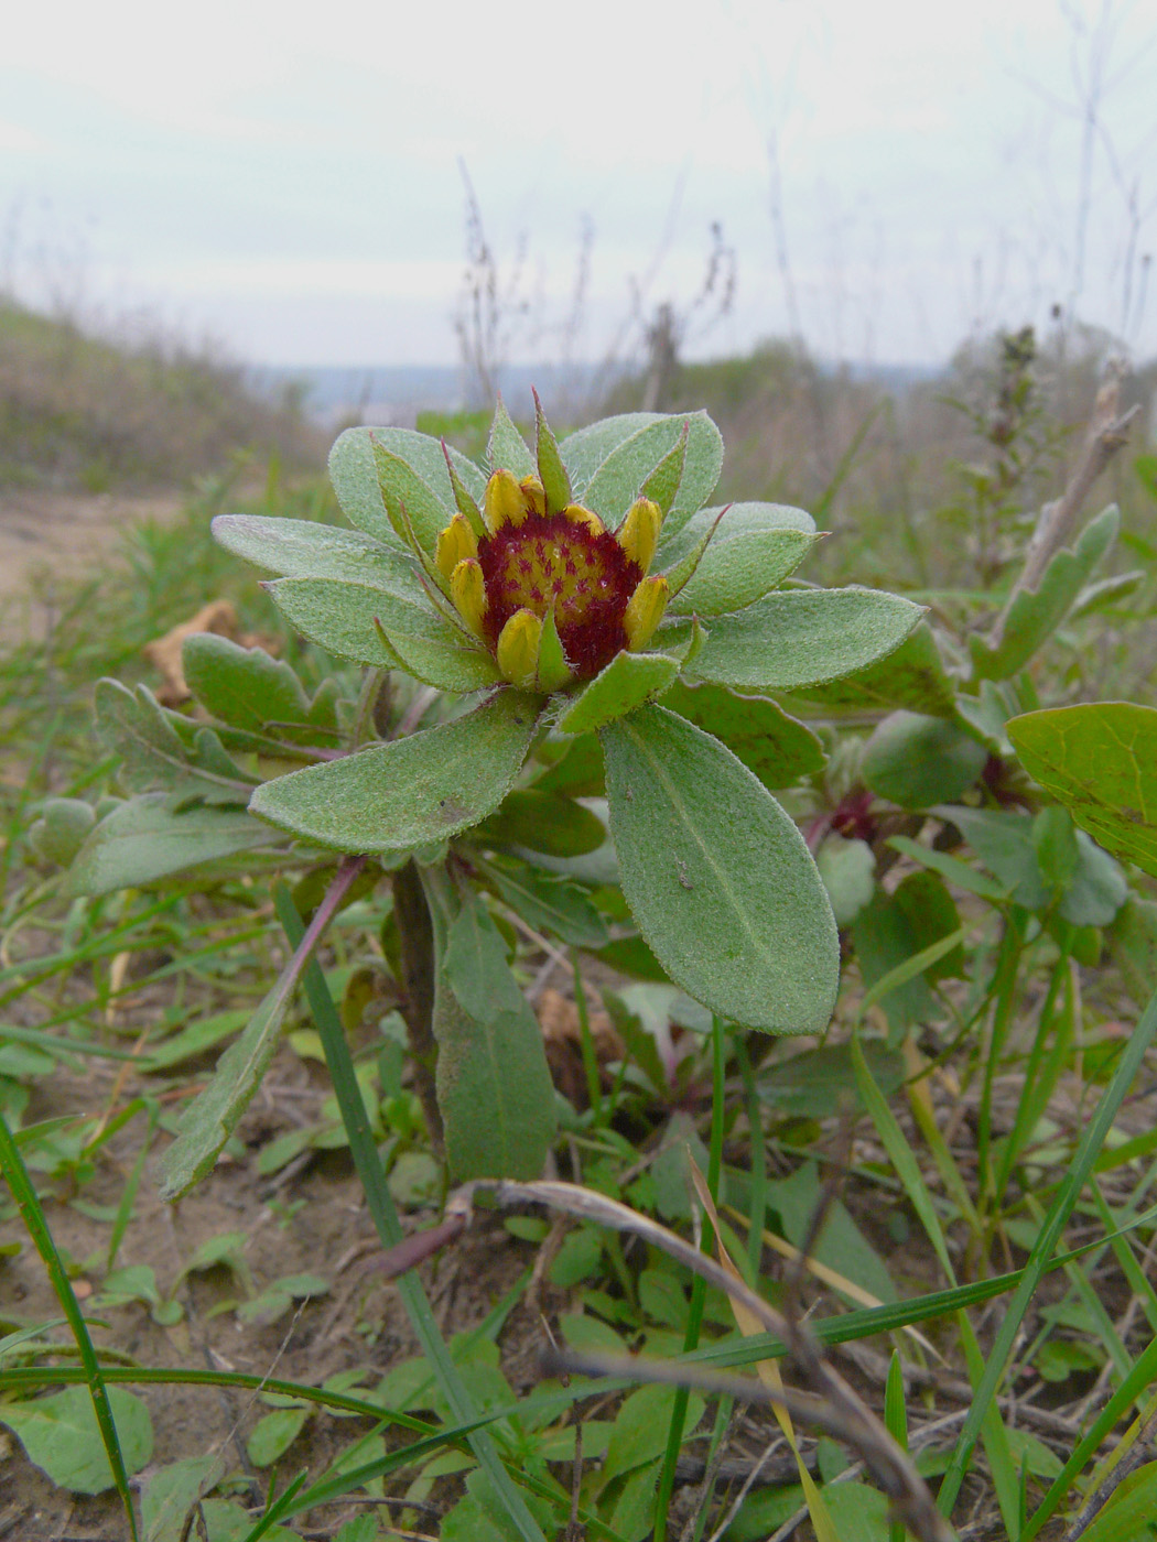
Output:
[[[177,1138],[160,1158],[162,1200],[179,1200],[211,1170],[268,1070],[298,978],[299,968],[290,959],[241,1036],[218,1061],[213,1081],[185,1107]],[[207,1264],[191,1261],[187,1269]]]

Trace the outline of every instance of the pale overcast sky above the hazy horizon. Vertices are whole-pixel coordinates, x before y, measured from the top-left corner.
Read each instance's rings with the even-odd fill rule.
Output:
[[[0,45],[0,284],[265,364],[454,362],[466,197],[514,358],[683,315],[938,362],[1061,304],[1157,353],[1152,0],[57,0]],[[514,270],[525,248],[521,278]]]

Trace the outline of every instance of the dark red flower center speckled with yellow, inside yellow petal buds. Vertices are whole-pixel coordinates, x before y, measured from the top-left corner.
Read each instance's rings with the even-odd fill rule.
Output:
[[[491,648],[515,611],[554,625],[566,662],[580,680],[597,675],[628,646],[623,614],[643,577],[609,530],[592,530],[563,513],[529,513],[478,537],[486,586],[483,626]]]

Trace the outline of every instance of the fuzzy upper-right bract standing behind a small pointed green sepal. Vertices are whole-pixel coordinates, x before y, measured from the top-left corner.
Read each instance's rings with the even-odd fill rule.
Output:
[[[705,412],[674,413],[622,439],[591,476],[583,503],[614,527],[676,447],[683,424],[690,424],[683,476],[663,520],[665,532],[674,535],[711,497],[724,466],[724,441]]]

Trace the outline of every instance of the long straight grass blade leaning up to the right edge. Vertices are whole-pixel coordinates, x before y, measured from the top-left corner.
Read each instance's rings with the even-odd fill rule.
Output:
[[[1041,1275],[1044,1274],[1049,1258],[1052,1257],[1052,1251],[1057,1246],[1064,1223],[1072,1214],[1072,1207],[1092,1173],[1094,1163],[1097,1161],[1101,1146],[1105,1144],[1105,1136],[1109,1133],[1112,1121],[1117,1116],[1117,1110],[1122,1106],[1122,1099],[1128,1093],[1137,1072],[1142,1067],[1142,1061],[1152,1044],[1154,1033],[1157,1033],[1157,995],[1149,999],[1132,1038],[1125,1045],[1125,1052],[1122,1053],[1109,1086],[1101,1093],[1097,1112],[1084,1127],[1084,1133],[1081,1135],[1077,1152],[1069,1164],[1069,1170],[1061,1180],[1060,1189],[1049,1206],[1044,1224],[1041,1226],[1037,1238],[1037,1246],[1029,1255],[1021,1281],[1017,1286],[1012,1301],[1004,1314],[1004,1321],[1000,1326],[997,1342],[992,1346],[992,1352],[984,1368],[984,1377],[981,1379],[981,1385],[972,1400],[960,1439],[956,1440],[956,1448],[952,1453],[952,1460],[944,1474],[944,1482],[939,1488],[936,1502],[941,1514],[944,1516],[952,1513],[952,1505],[956,1502],[956,1494],[960,1493],[960,1485],[964,1482],[972,1449],[977,1443],[989,1403],[995,1399],[997,1388],[1004,1377],[1009,1355],[1012,1354],[1012,1346],[1017,1334],[1020,1332],[1020,1325],[1024,1318],[1029,1301],[1040,1284]]]

